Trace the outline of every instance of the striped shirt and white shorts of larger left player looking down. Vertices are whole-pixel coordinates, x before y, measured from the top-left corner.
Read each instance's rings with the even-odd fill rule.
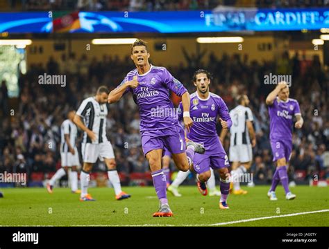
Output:
[[[94,132],[96,139],[91,140],[85,132],[83,134],[82,154],[83,162],[96,163],[97,158],[115,158],[110,141],[106,137],[106,103],[100,104],[95,97],[86,98],[76,111],[76,115],[83,118],[85,126]]]

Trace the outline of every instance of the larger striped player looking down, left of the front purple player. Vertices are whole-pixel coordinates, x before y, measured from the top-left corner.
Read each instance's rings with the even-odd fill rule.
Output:
[[[116,169],[115,154],[110,141],[106,137],[106,116],[108,108],[106,102],[110,91],[106,86],[100,86],[94,97],[86,98],[76,111],[74,122],[85,131],[82,143],[83,169],[80,174],[80,201],[95,201],[87,193],[92,165],[97,158],[104,160],[108,167],[108,179],[115,189],[117,200],[128,199],[130,194],[121,190],[120,178]],[[83,120],[81,120],[83,118]]]

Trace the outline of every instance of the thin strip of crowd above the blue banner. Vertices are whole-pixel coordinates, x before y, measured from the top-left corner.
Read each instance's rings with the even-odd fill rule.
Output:
[[[217,6],[257,8],[325,7],[328,0],[8,0],[11,9],[22,10],[211,10]]]

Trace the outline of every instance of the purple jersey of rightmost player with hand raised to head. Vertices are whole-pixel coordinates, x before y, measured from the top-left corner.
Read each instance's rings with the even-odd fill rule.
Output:
[[[287,102],[274,100],[269,106],[270,140],[292,140],[293,117],[301,115],[301,109],[297,100],[289,98]]]

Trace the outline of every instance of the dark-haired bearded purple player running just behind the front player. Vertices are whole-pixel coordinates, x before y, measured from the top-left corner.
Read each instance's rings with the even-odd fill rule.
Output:
[[[205,147],[205,154],[196,154],[193,160],[196,172],[197,186],[201,194],[207,195],[206,181],[211,176],[210,167],[216,169],[220,176],[221,199],[219,208],[228,209],[226,199],[230,190],[230,174],[228,173],[228,156],[219,140],[216,130],[217,117],[223,129],[232,125],[228,107],[219,95],[210,93],[211,75],[208,71],[199,69],[193,75],[196,92],[191,95],[190,113],[194,125],[187,133],[187,139],[201,143]],[[178,113],[181,105],[178,109]]]

